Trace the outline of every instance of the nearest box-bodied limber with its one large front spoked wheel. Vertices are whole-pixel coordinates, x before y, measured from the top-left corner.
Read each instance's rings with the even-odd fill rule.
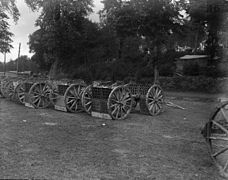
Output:
[[[94,82],[91,92],[91,103],[87,101],[84,106],[91,104],[92,116],[116,120],[125,119],[131,112],[132,97],[127,84]]]

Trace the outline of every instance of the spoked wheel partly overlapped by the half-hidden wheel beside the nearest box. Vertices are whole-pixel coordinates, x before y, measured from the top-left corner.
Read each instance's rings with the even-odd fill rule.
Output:
[[[84,89],[85,86],[81,84],[72,84],[67,88],[64,101],[69,112],[75,113],[83,110],[81,99]]]

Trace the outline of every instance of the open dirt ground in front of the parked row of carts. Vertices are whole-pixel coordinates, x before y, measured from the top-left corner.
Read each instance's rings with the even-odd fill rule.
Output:
[[[110,121],[0,99],[0,179],[222,179],[200,134],[211,105],[175,102],[187,110]]]

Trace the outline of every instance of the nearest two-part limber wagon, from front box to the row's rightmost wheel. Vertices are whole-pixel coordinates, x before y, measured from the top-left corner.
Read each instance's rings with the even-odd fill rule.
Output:
[[[164,93],[157,84],[100,82],[91,89],[92,116],[125,119],[137,104],[144,114],[155,116],[163,111]]]

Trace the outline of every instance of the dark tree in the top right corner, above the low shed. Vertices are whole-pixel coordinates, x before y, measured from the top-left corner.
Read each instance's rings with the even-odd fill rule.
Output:
[[[190,0],[190,17],[198,26],[198,32],[203,29],[207,35],[206,53],[212,60],[219,55],[218,35],[224,30],[222,25],[227,24],[227,21],[223,21],[227,7],[228,3],[224,0]]]

